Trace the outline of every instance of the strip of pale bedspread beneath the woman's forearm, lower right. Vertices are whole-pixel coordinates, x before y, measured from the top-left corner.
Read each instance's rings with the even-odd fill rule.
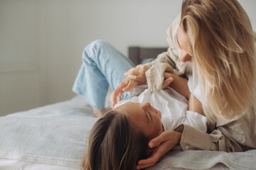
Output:
[[[256,169],[256,150],[247,152],[172,151],[166,154],[153,169]]]

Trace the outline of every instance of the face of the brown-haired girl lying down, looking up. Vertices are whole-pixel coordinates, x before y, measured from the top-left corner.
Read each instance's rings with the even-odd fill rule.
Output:
[[[164,132],[161,123],[161,112],[153,108],[149,102],[147,103],[124,103],[122,106],[115,108],[116,111],[126,111],[129,114],[132,123],[136,125],[148,140],[158,137],[161,132]]]

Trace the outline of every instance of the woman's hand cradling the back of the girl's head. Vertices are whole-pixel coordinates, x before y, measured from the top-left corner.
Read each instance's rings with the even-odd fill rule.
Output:
[[[181,133],[174,130],[166,130],[161,133],[158,137],[155,137],[149,142],[149,148],[154,148],[151,156],[147,159],[139,160],[136,168],[144,169],[146,167],[156,164],[156,162],[164,156],[169,150],[181,141]]]

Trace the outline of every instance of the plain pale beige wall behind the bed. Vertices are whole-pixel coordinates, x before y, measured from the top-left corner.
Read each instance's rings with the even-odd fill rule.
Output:
[[[256,1],[240,0],[256,30]],[[89,42],[166,46],[181,1],[0,0],[0,115],[75,96]]]

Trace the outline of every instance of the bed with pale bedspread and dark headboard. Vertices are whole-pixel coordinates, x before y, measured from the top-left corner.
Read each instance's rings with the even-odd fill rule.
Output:
[[[129,47],[139,64],[166,47]],[[106,103],[110,105],[111,90]],[[81,97],[0,117],[0,170],[80,169],[88,135],[97,121]],[[247,152],[171,151],[152,169],[256,169],[256,149]]]

